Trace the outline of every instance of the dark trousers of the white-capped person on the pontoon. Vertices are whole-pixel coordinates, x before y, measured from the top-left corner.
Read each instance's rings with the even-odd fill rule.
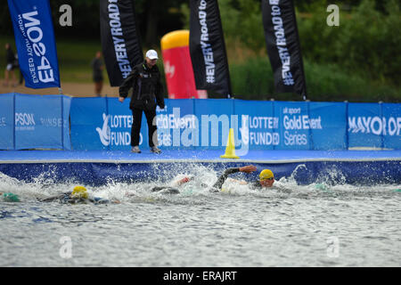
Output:
[[[141,131],[141,123],[142,123],[142,112],[145,113],[146,121],[148,122],[148,135],[149,135],[149,146],[157,146],[158,145],[158,135],[157,135],[157,126],[156,120],[154,122],[155,126],[153,126],[153,118],[156,117],[156,109],[155,110],[140,110],[140,109],[132,109],[132,127],[131,127],[131,145],[139,145],[139,133]],[[154,138],[153,138],[154,136]]]

